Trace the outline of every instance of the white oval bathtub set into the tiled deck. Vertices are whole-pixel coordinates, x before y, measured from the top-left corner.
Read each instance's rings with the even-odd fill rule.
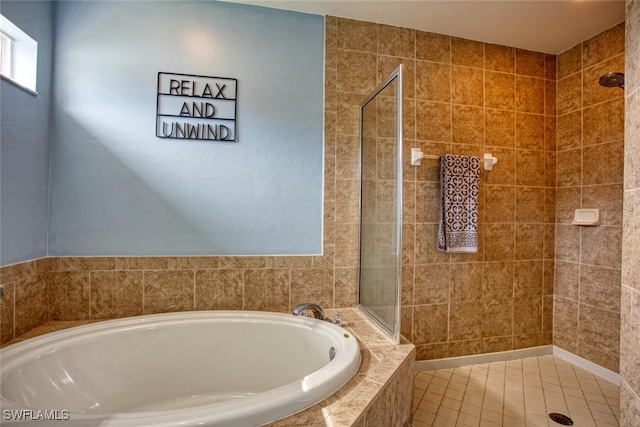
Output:
[[[0,424],[256,426],[321,401],[359,366],[355,337],[306,317],[207,311],[110,320],[2,349]]]

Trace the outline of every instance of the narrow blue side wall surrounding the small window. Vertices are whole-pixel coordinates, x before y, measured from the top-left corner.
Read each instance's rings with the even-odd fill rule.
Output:
[[[38,95],[0,80],[0,265],[9,265],[47,254],[54,4],[3,0],[0,13],[38,42]]]

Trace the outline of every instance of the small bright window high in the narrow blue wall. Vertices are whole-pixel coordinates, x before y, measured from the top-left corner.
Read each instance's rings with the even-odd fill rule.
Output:
[[[38,43],[0,15],[0,75],[36,94]]]

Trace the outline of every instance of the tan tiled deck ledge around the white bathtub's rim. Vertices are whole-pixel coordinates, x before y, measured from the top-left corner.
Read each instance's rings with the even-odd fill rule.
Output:
[[[345,328],[358,338],[362,364],[341,390],[298,414],[268,424],[269,427],[402,427],[409,420],[413,393],[415,346],[406,340],[389,341],[356,308],[339,311]],[[334,310],[327,310],[333,316]],[[11,341],[10,344],[90,321],[51,321]]]

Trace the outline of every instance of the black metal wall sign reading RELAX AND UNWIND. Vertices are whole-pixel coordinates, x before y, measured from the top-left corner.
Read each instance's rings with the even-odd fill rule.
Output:
[[[224,77],[158,73],[158,138],[236,140],[238,81]]]

